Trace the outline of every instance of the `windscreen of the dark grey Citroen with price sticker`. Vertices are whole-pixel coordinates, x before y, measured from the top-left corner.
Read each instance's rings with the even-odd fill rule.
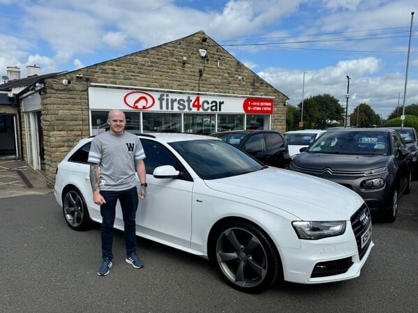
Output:
[[[387,132],[326,132],[308,148],[308,152],[352,155],[387,155]]]

